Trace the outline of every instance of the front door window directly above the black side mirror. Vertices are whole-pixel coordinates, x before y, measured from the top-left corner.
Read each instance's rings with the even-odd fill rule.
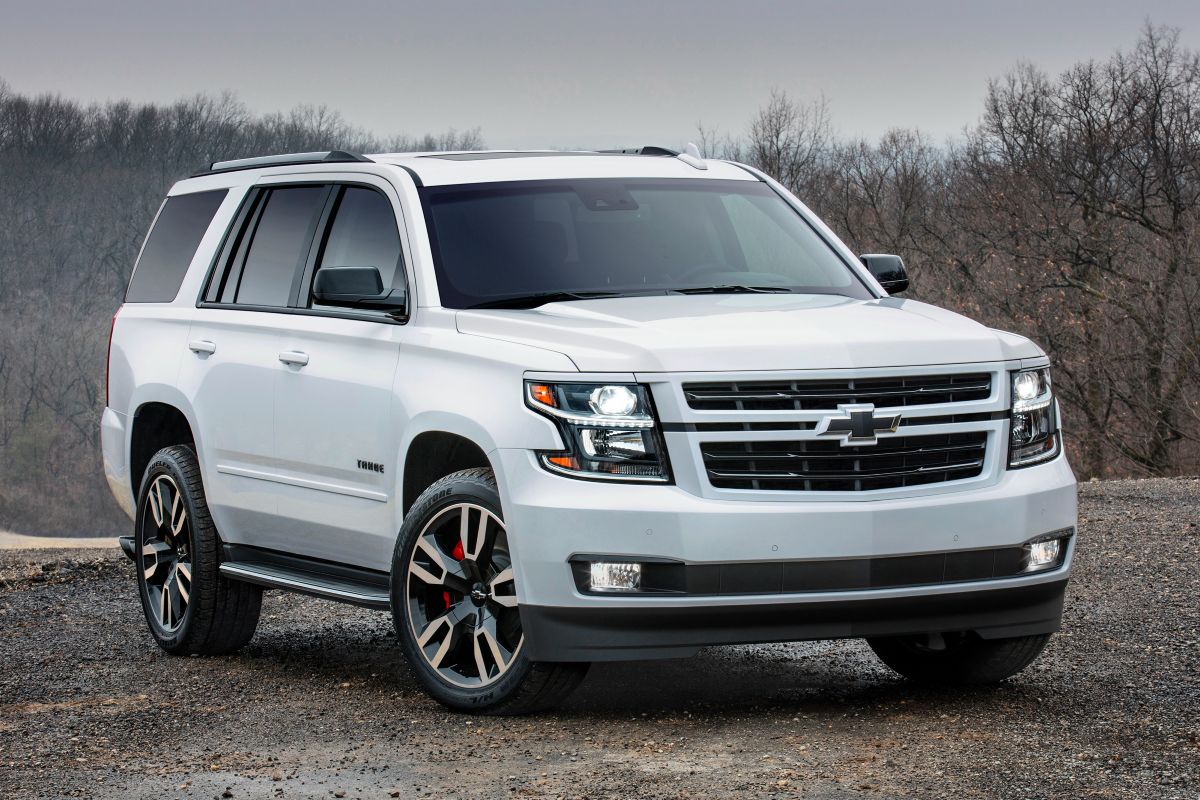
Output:
[[[404,285],[400,231],[386,197],[356,186],[342,192],[318,269],[325,266],[373,266],[384,290]]]

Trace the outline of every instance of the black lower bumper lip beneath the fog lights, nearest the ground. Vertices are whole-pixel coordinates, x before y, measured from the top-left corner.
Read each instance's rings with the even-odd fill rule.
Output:
[[[1052,633],[1067,578],[910,597],[742,606],[521,606],[534,661],[678,658],[703,646],[973,631],[988,639]]]

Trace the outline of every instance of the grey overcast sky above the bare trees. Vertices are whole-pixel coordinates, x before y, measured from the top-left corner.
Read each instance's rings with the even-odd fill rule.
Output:
[[[739,133],[778,88],[823,94],[844,134],[942,138],[978,119],[989,77],[1105,59],[1147,18],[1200,49],[1198,0],[0,0],[0,78],[79,100],[230,89],[383,136],[479,126],[494,148],[678,145],[700,121]]]

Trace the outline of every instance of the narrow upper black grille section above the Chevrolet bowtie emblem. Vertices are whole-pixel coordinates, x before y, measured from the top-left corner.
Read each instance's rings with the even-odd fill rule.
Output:
[[[724,381],[684,384],[683,392],[697,411],[836,410],[850,403],[895,408],[988,399],[991,375]]]

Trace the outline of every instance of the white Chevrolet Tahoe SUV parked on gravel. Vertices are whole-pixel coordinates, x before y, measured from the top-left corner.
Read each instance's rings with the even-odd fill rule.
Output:
[[[906,285],[691,148],[215,163],[113,320],[150,631],[234,650],[263,588],[389,609],[433,697],[505,714],[714,644],[1004,679],[1070,570],[1048,361]]]

